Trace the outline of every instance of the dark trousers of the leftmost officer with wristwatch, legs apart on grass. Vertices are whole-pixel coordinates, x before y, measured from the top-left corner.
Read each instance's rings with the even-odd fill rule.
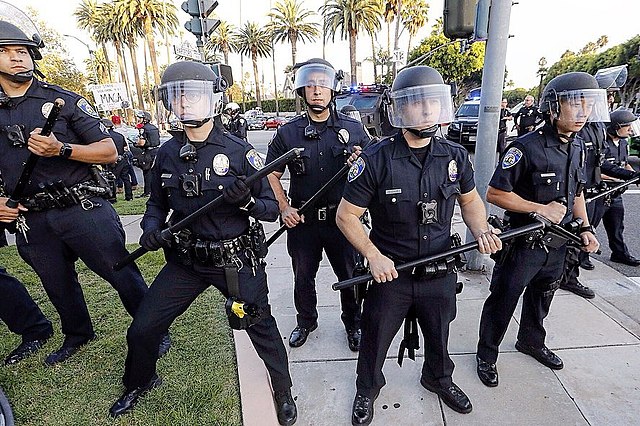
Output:
[[[120,271],[113,265],[128,254],[118,214],[108,201],[90,210],[80,205],[25,214],[28,243],[20,232],[16,242],[20,256],[38,274],[51,303],[60,315],[64,345],[75,346],[94,335],[93,325],[78,282],[75,262],[82,259],[89,269],[116,289],[133,316],[147,285],[138,267],[131,263]]]

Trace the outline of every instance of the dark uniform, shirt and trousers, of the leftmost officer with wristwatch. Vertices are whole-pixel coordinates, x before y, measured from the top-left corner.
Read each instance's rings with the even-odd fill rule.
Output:
[[[57,98],[65,101],[53,126],[58,140],[88,145],[109,137],[86,99],[34,78],[24,96],[0,107],[4,126],[0,132],[0,171],[7,192],[16,187],[29,156],[29,133],[44,125]],[[23,144],[9,140],[8,125],[20,126]],[[23,216],[30,229],[28,242],[22,233],[16,234],[18,252],[38,274],[60,314],[63,347],[79,346],[94,336],[75,270],[78,258],[118,291],[132,316],[147,290],[135,265],[113,270],[113,264],[128,254],[124,230],[111,204],[86,189],[87,185],[96,187],[88,164],[62,156],[42,157],[20,200],[29,209]]]

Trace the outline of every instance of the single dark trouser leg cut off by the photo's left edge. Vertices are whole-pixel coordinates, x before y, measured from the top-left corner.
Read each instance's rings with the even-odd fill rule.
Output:
[[[23,342],[45,339],[53,333],[51,322],[44,316],[27,289],[0,266],[0,320],[9,330],[22,336]]]

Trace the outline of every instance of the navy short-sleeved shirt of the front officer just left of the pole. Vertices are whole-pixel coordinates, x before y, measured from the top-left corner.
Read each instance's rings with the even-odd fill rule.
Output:
[[[344,199],[368,207],[369,237],[394,260],[414,260],[451,248],[456,196],[475,188],[467,151],[431,138],[424,165],[398,133],[366,149],[349,170]],[[418,202],[437,202],[437,223],[421,225]]]

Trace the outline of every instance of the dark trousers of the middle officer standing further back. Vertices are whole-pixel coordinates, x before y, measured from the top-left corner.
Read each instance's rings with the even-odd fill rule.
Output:
[[[300,327],[309,328],[318,321],[316,274],[322,261],[322,251],[327,254],[339,281],[353,277],[356,252],[334,220],[318,221],[311,217],[305,220],[306,223],[288,230],[287,250],[293,265],[296,319]],[[340,304],[345,328],[360,328],[360,306],[356,303],[353,288],[340,290]]]

